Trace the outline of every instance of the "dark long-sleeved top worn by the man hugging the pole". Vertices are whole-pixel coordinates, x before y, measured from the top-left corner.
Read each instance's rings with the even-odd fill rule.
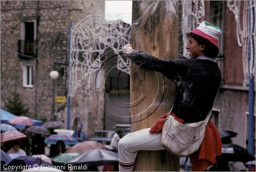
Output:
[[[173,112],[179,118],[188,123],[205,119],[221,83],[221,71],[216,62],[160,59],[141,50],[134,50],[129,58],[145,69],[161,72],[176,84]]]

